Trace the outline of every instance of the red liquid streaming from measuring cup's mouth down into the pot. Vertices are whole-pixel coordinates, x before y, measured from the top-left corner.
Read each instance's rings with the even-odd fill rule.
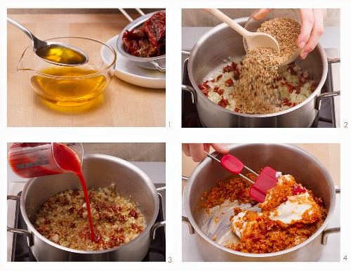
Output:
[[[84,197],[86,199],[86,209],[88,210],[88,218],[91,231],[91,241],[95,241],[95,232],[93,227],[93,219],[91,218],[91,209],[88,197],[88,189],[86,188],[86,180],[81,171],[81,163],[77,154],[64,144],[53,143],[53,154],[58,165],[66,171],[74,173],[81,181]]]

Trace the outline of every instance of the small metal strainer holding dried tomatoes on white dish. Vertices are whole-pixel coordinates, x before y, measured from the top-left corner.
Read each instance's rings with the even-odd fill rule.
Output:
[[[126,30],[131,31],[133,29],[140,28],[144,25],[144,22],[149,19],[154,13],[157,13],[159,11],[153,12],[153,13],[148,13],[145,14],[141,17],[139,17],[136,20],[133,20],[129,25],[124,27],[124,29],[121,31],[121,34],[119,34],[118,39],[117,39],[117,50],[121,55],[124,57],[128,58],[131,61],[134,61],[139,65],[140,67],[144,67],[146,69],[150,70],[159,70],[160,72],[166,72],[166,55],[160,55],[160,56],[154,56],[152,58],[140,58],[138,56],[131,55],[126,51],[126,47],[124,46],[122,37],[124,32]],[[166,13],[166,11],[164,11]]]

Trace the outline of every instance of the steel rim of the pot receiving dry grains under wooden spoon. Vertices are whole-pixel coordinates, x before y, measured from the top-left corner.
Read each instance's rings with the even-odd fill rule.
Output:
[[[248,19],[249,19],[248,17],[237,18],[237,19],[234,19],[234,21],[239,23],[239,24],[240,23],[242,24],[242,23],[246,22],[246,20],[248,20]],[[286,113],[292,112],[294,110],[298,110],[298,108],[303,107],[303,105],[309,103],[310,100],[314,99],[314,97],[321,92],[322,86],[323,86],[324,82],[326,81],[326,75],[327,75],[327,72],[328,72],[328,62],[327,62],[327,59],[326,59],[326,53],[324,52],[324,49],[322,48],[322,45],[318,43],[317,46],[314,48],[314,51],[318,51],[319,55],[322,55],[322,67],[326,67],[326,69],[322,70],[322,77],[319,80],[319,83],[318,83],[318,86],[317,86],[316,90],[310,95],[310,97],[308,97],[306,100],[304,100],[303,103],[300,103],[300,104],[298,104],[298,105],[296,105],[294,107],[291,107],[291,108],[289,108],[287,110],[283,110],[283,111],[279,111],[279,112],[275,112],[275,113],[270,113],[270,114],[245,114],[245,113],[239,113],[239,112],[234,112],[232,110],[227,110],[227,109],[221,107],[220,105],[217,105],[216,103],[213,103],[203,93],[201,93],[201,91],[199,89],[199,86],[198,86],[199,83],[197,81],[195,81],[195,79],[194,79],[194,74],[192,72],[192,70],[193,70],[192,65],[193,65],[193,62],[195,60],[194,59],[195,58],[194,55],[197,52],[198,48],[200,48],[201,44],[206,42],[206,40],[209,37],[211,37],[212,34],[214,34],[216,32],[219,32],[219,31],[222,31],[225,28],[229,28],[229,26],[226,25],[223,22],[222,24],[217,25],[216,27],[213,27],[211,30],[209,30],[204,35],[202,35],[201,38],[192,47],[192,50],[190,51],[189,61],[187,62],[187,66],[188,66],[187,72],[189,74],[190,82],[191,82],[194,90],[197,92],[198,98],[200,98],[201,100],[204,100],[205,103],[208,103],[207,106],[215,107],[217,110],[221,110],[223,112],[234,114],[234,115],[237,115],[238,117],[255,117],[255,118],[277,117],[279,115],[286,114]],[[243,44],[243,46],[244,46],[244,44]]]

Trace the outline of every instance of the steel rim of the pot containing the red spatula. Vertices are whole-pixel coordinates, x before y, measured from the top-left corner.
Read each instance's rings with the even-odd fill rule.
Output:
[[[291,251],[295,251],[297,249],[300,249],[302,246],[305,246],[306,244],[312,242],[312,240],[314,240],[314,238],[316,238],[319,234],[322,233],[322,231],[324,231],[324,229],[326,228],[326,226],[329,223],[329,220],[331,219],[331,216],[333,215],[333,211],[335,209],[335,204],[336,204],[336,193],[335,193],[335,186],[332,183],[331,180],[331,176],[329,174],[328,171],[326,171],[325,166],[316,159],[316,157],[312,156],[312,154],[310,154],[309,152],[306,152],[305,150],[303,150],[300,147],[294,146],[294,145],[289,145],[289,144],[274,144],[274,143],[267,143],[267,144],[260,144],[260,143],[252,143],[252,144],[232,144],[232,145],[227,145],[227,147],[229,147],[230,151],[235,150],[239,147],[255,147],[256,145],[278,145],[278,146],[282,146],[282,147],[286,147],[289,150],[294,150],[300,154],[303,154],[305,156],[307,156],[308,158],[312,159],[315,164],[317,164],[317,166],[319,166],[319,168],[321,168],[321,171],[323,171],[324,175],[326,176],[327,180],[329,180],[329,190],[330,190],[330,194],[331,194],[331,200],[330,200],[330,206],[328,209],[328,214],[326,216],[326,219],[324,220],[324,223],[322,223],[321,227],[319,227],[319,229],[314,232],[314,234],[312,234],[307,240],[305,240],[304,242],[298,244],[297,246],[293,246],[290,249],[285,249],[284,251],[277,251],[277,252],[272,252],[272,253],[245,253],[245,252],[240,252],[240,251],[234,251],[232,249],[227,249],[225,246],[221,246],[220,244],[214,242],[211,238],[207,237],[206,234],[204,234],[204,232],[201,231],[201,229],[199,228],[199,226],[197,225],[197,223],[194,220],[194,217],[192,216],[192,211],[190,210],[190,188],[193,185],[193,178],[194,176],[197,175],[197,173],[199,171],[201,171],[201,168],[203,168],[204,166],[206,166],[206,164],[211,163],[212,159],[209,157],[206,157],[203,161],[201,161],[201,163],[199,163],[196,168],[194,168],[194,171],[192,171],[192,173],[190,174],[189,180],[187,180],[187,184],[185,185],[185,190],[184,190],[184,194],[183,194],[183,204],[185,205],[185,212],[187,213],[187,218],[190,221],[190,224],[192,225],[192,227],[194,228],[195,232],[197,232],[197,234],[199,234],[205,241],[209,242],[210,244],[212,244],[213,246],[216,246],[218,249],[222,249],[223,251],[226,251],[228,253],[232,253],[232,254],[236,254],[238,256],[246,256],[246,257],[252,257],[252,258],[265,258],[265,257],[272,257],[272,256],[280,256],[282,254],[285,253],[289,253]],[[213,156],[216,158],[220,158],[220,156],[223,154],[220,154],[218,152],[214,152]]]

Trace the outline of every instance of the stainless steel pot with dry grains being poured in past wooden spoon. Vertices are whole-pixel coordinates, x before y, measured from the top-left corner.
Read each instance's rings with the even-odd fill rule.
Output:
[[[247,18],[235,20],[244,26]],[[186,52],[183,52],[186,54]],[[192,93],[192,101],[197,105],[201,123],[206,127],[309,127],[320,109],[321,100],[335,95],[340,91],[321,94],[326,80],[328,61],[320,44],[305,60],[296,60],[298,65],[308,70],[312,77],[319,81],[317,89],[307,100],[296,107],[273,114],[242,114],[227,110],[209,100],[201,93],[198,85],[223,65],[228,57],[245,55],[243,39],[237,32],[225,24],[213,27],[194,45],[190,53],[187,70],[192,86],[182,86]],[[337,62],[340,60],[331,60]]]

